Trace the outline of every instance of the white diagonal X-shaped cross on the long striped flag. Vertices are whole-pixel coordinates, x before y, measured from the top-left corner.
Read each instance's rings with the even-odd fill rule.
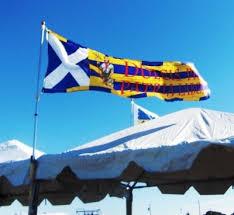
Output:
[[[52,89],[60,81],[62,81],[68,73],[73,76],[79,86],[89,86],[88,75],[79,65],[76,65],[88,57],[88,49],[79,48],[73,54],[67,55],[64,46],[54,35],[48,35],[48,42],[62,63],[53,72],[45,77],[44,88]]]

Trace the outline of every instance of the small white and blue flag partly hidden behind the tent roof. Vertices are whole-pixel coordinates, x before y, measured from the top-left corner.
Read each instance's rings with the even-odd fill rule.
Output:
[[[131,103],[134,125],[141,124],[159,117],[157,114],[150,112],[140,105],[137,105],[134,101],[132,101]]]

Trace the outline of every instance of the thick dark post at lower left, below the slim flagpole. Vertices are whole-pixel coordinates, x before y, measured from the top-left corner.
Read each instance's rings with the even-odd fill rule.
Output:
[[[30,189],[28,215],[37,215],[39,183],[36,180],[37,160],[31,157],[30,161]]]

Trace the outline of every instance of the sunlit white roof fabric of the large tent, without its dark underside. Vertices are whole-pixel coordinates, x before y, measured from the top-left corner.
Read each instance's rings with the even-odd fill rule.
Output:
[[[130,162],[147,172],[186,170],[210,144],[234,146],[234,114],[188,109],[116,132],[67,153],[43,156],[39,159],[37,178],[53,179],[69,166],[80,179],[113,179],[120,177]],[[46,171],[51,166],[52,170]]]

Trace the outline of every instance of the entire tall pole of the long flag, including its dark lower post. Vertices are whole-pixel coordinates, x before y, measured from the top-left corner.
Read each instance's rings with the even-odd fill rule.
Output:
[[[36,142],[37,142],[37,124],[38,124],[38,104],[40,98],[40,74],[42,59],[42,44],[44,41],[45,22],[41,23],[41,41],[38,61],[37,88],[36,88],[36,105],[34,114],[34,132],[33,132],[33,153],[30,163],[30,188],[29,188],[29,209],[28,215],[37,215],[39,183],[36,180],[37,160],[35,158]]]

